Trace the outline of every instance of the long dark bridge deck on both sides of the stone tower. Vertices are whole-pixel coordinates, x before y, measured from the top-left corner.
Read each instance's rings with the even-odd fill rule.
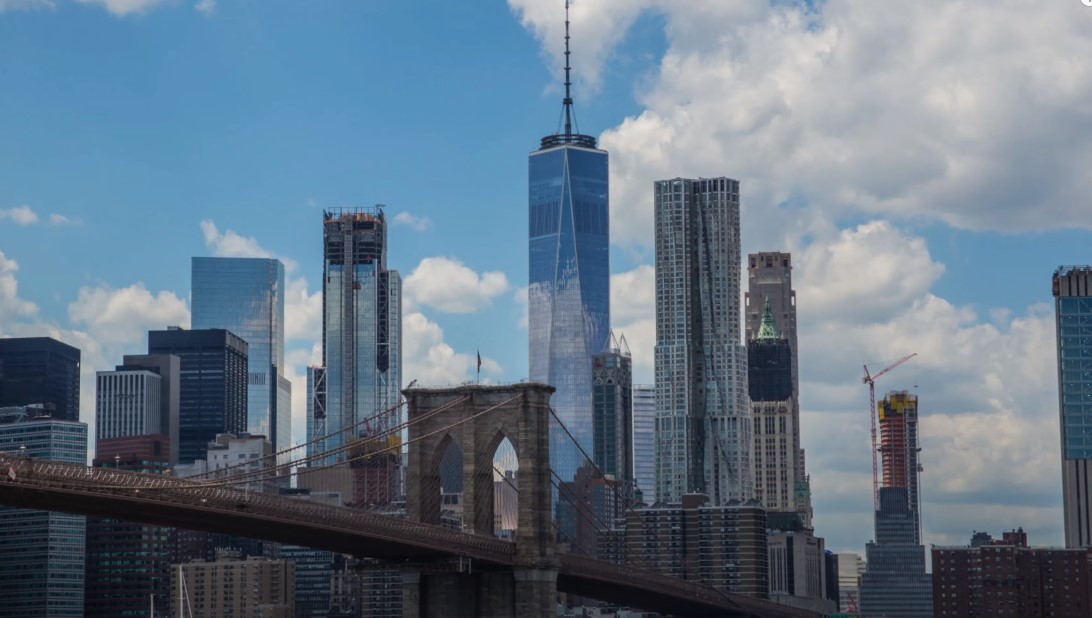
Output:
[[[468,557],[510,568],[513,543],[379,513],[163,475],[0,455],[0,504],[238,534],[392,562]],[[396,568],[396,567],[395,567]],[[682,616],[811,618],[661,573],[562,554],[558,590]]]

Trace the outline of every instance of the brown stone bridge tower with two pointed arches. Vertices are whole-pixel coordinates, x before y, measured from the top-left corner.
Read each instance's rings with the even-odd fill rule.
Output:
[[[424,566],[403,575],[403,616],[556,616],[558,557],[553,533],[549,400],[554,388],[520,383],[407,389],[406,516],[440,523],[440,461],[463,453],[464,532],[494,534],[492,457],[505,438],[519,461],[514,567]],[[439,408],[450,406],[437,412]],[[452,572],[455,570],[455,572]]]

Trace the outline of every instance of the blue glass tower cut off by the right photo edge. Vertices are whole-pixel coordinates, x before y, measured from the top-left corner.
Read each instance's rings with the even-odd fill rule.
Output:
[[[1054,271],[1066,547],[1092,546],[1092,266]]]

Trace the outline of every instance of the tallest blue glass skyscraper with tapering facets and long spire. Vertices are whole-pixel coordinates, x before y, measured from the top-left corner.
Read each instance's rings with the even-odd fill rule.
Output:
[[[557,389],[550,403],[592,452],[592,357],[610,332],[608,161],[595,138],[574,132],[566,13],[563,129],[542,139],[529,162],[530,378]],[[555,470],[573,478],[574,449],[553,441]]]

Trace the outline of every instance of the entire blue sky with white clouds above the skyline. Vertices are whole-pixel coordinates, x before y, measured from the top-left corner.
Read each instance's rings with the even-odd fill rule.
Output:
[[[526,376],[526,155],[558,129],[561,0],[0,0],[0,335],[94,371],[188,325],[190,258],[287,269],[293,433],[323,209],[383,204],[405,382]],[[573,0],[610,153],[613,326],[653,376],[652,183],[740,180],[791,251],[817,534],[871,538],[862,366],[921,399],[927,544],[1061,545],[1049,280],[1092,262],[1081,0]]]

